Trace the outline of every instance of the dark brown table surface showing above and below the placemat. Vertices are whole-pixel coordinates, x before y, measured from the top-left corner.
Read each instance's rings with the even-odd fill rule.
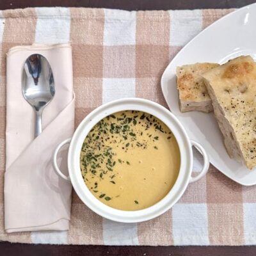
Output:
[[[256,1],[252,0],[0,0],[0,10],[38,6],[115,8],[123,10],[179,10],[203,8],[239,8],[255,2]],[[1,242],[0,255],[255,256],[256,246],[76,246]]]

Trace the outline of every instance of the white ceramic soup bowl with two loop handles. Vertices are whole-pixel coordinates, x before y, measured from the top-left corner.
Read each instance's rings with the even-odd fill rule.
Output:
[[[87,188],[80,169],[81,148],[84,138],[86,138],[88,132],[90,132],[93,126],[105,116],[125,110],[143,111],[159,118],[159,120],[163,121],[170,131],[172,131],[180,150],[180,170],[173,188],[162,200],[151,207],[139,211],[121,211],[100,202]],[[68,148],[69,176],[64,175],[58,168],[57,164],[58,151],[67,143],[70,143]],[[193,146],[199,150],[204,158],[203,168],[196,177],[191,177],[193,167]],[[177,118],[168,111],[168,109],[150,100],[138,98],[114,100],[94,109],[84,118],[81,124],[79,124],[72,138],[63,141],[58,145],[54,152],[53,162],[56,172],[63,179],[70,180],[72,182],[72,186],[79,198],[84,202],[84,204],[92,209],[92,211],[109,220],[125,223],[146,221],[163,214],[179,200],[188,184],[201,179],[209,168],[209,158],[204,148],[199,143],[189,140],[184,127],[182,127],[179,120],[177,120]]]

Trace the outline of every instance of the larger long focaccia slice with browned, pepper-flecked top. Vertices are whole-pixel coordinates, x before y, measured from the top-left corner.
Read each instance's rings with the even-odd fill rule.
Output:
[[[256,166],[256,63],[240,56],[203,74],[230,157]]]

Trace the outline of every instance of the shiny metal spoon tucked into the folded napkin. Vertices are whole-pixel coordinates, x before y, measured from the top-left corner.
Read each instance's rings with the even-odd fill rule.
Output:
[[[42,132],[42,113],[55,94],[54,79],[49,62],[41,54],[30,55],[22,73],[22,93],[35,108],[35,137]]]

